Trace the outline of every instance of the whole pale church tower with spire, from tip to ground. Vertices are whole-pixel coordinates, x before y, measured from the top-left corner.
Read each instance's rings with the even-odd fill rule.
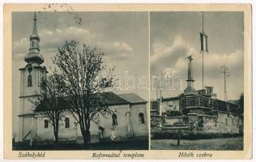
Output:
[[[45,66],[41,66],[44,58],[40,53],[40,37],[36,29],[36,13],[34,15],[33,32],[30,36],[30,48],[24,61],[27,65],[20,68],[20,96],[19,96],[19,141],[32,139],[36,135],[36,120],[34,108],[29,99],[39,90],[42,76],[46,75]]]

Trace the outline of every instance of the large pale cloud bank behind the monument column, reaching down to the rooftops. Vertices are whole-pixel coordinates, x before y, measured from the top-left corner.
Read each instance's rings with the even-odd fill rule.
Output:
[[[194,87],[202,87],[202,53],[196,52],[194,47],[186,44],[181,37],[176,37],[171,47],[164,46],[159,42],[153,44],[153,55],[151,57],[151,75],[172,75],[183,80],[183,87],[186,87],[188,61],[186,56],[193,55]],[[204,54],[204,83],[207,86],[215,87],[214,91],[219,98],[224,98],[224,79],[220,73],[220,66],[228,66],[230,76],[228,83],[228,98],[236,99],[243,92],[243,70],[244,54],[241,49],[234,49],[231,53],[205,53]],[[175,96],[180,94],[179,84],[173,85],[175,91],[164,91],[164,96]],[[234,88],[236,87],[236,88]],[[170,94],[171,93],[171,94]]]

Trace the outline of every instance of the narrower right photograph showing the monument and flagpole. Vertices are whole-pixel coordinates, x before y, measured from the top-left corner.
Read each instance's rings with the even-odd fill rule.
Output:
[[[243,12],[151,12],[150,45],[151,150],[243,150]]]

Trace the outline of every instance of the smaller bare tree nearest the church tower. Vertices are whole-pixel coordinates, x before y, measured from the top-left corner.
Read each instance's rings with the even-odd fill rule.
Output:
[[[58,143],[60,121],[64,117],[66,109],[69,108],[63,88],[63,77],[56,72],[53,72],[53,75],[45,75],[42,77],[39,87],[39,91],[36,91],[29,101],[36,107],[36,113],[49,119],[49,123],[53,126],[55,143]]]

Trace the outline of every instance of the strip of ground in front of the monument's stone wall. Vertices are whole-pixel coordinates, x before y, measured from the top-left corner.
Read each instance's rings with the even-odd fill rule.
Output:
[[[222,139],[151,139],[152,150],[243,150],[243,137]]]

